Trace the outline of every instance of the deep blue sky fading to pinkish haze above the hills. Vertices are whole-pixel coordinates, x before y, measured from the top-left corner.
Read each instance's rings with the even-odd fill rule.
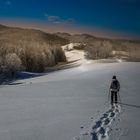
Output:
[[[140,0],[0,0],[0,23],[140,38]]]

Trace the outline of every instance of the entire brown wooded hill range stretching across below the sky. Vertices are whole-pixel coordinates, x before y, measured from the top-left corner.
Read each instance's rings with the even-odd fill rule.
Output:
[[[66,57],[61,46],[81,43],[90,59],[108,57],[140,61],[140,41],[99,38],[89,34],[45,33],[0,25],[0,73],[25,70],[43,72]]]

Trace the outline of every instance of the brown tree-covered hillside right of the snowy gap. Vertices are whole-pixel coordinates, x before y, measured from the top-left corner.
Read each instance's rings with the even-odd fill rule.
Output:
[[[140,41],[99,38],[88,34],[70,35],[56,33],[71,43],[81,43],[75,49],[83,49],[88,59],[119,58],[125,61],[140,61]]]

